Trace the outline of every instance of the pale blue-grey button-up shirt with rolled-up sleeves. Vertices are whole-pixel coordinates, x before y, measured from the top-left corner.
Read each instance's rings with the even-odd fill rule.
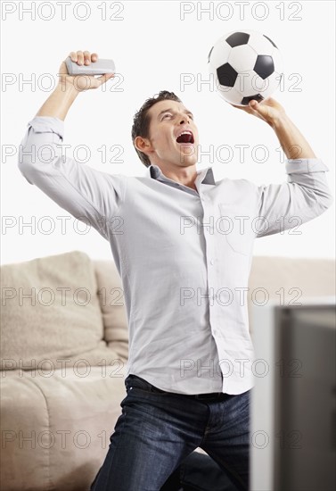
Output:
[[[253,243],[332,204],[324,162],[287,161],[287,182],[261,186],[215,181],[208,167],[198,172],[196,191],[156,165],[143,177],[127,177],[64,158],[57,118],[35,117],[28,126],[23,176],[111,244],[127,312],[127,375],[179,394],[250,389]]]

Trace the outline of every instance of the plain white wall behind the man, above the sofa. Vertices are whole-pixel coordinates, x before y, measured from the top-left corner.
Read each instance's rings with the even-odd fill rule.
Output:
[[[65,20],[61,4],[67,9]],[[22,7],[35,9],[36,19]],[[212,12],[201,10],[205,8],[212,10],[213,18]],[[278,90],[275,98],[329,167],[327,177],[334,195],[333,2],[53,2],[53,9],[51,2],[2,2],[2,9],[2,215],[7,224],[12,221],[11,228],[2,229],[2,263],[75,249],[94,259],[111,259],[109,243],[94,229],[80,233],[85,225],[72,217],[62,233],[57,217],[70,217],[68,212],[29,185],[17,167],[17,154],[4,154],[17,152],[27,122],[51,93],[48,83],[52,77],[57,79],[61,60],[72,50],[87,49],[113,58],[123,78],[122,91],[109,82],[105,91],[80,94],[66,118],[64,144],[88,146],[91,158],[86,164],[112,174],[143,175],[146,169],[130,137],[133,116],[146,98],[166,89],[176,92],[193,111],[204,151],[221,145],[233,149],[232,162],[218,162],[216,155],[209,162],[203,156],[198,170],[212,165],[216,180],[280,183],[287,176],[272,129],[226,104],[209,85],[200,84],[209,80],[207,57],[218,37],[243,28],[261,31],[281,49],[285,63],[284,90]],[[53,19],[46,20],[53,13]],[[181,77],[188,73],[195,82],[182,87]],[[22,85],[23,79],[32,78],[32,84]],[[240,162],[234,146],[242,144],[250,147]],[[258,145],[268,149],[264,163],[253,162],[253,147]],[[102,146],[107,149],[107,162],[102,162],[98,151]],[[111,146],[123,148],[119,156],[123,162],[109,162],[113,160]],[[42,221],[43,217],[50,219]],[[35,231],[20,227],[34,220]],[[332,257],[334,223],[332,205],[300,226],[299,235],[287,231],[257,239],[254,254]],[[54,230],[47,233],[50,224]]]

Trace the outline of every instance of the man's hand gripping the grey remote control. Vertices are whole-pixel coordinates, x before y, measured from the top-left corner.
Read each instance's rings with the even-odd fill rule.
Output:
[[[91,54],[89,51],[71,51],[69,56],[72,62],[77,62],[78,65],[88,66],[91,62],[94,63],[98,60],[98,54]],[[62,87],[68,87],[68,84],[71,84],[78,92],[83,92],[84,90],[88,90],[90,88],[101,87],[102,84],[114,77],[114,73],[107,73],[105,75],[101,75],[100,77],[94,77],[94,75],[71,76],[68,73],[65,62],[61,62],[59,76],[59,84],[61,84]]]

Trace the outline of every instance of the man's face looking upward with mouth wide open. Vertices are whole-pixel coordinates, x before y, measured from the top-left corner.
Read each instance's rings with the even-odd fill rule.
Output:
[[[197,163],[198,130],[193,113],[184,104],[160,101],[152,105],[148,115],[151,121],[148,155],[152,163],[182,168]]]

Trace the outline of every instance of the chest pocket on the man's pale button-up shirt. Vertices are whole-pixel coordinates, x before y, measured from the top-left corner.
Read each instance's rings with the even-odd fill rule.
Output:
[[[236,254],[250,255],[253,244],[252,217],[246,206],[219,203],[217,231]]]

